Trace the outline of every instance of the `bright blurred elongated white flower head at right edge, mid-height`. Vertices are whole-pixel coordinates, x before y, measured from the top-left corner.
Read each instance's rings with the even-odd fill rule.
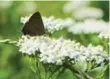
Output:
[[[88,33],[101,33],[107,32],[109,24],[103,20],[87,19],[84,22],[77,22],[68,28],[69,32],[73,34],[88,34]]]

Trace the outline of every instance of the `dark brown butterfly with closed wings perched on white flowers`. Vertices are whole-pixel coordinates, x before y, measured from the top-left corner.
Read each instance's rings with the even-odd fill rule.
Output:
[[[44,24],[39,12],[35,12],[25,23],[22,32],[24,35],[38,36],[44,35]]]

